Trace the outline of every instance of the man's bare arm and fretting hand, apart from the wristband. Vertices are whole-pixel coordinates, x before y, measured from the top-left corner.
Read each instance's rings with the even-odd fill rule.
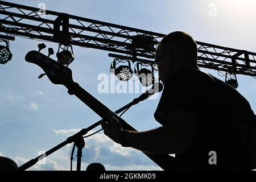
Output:
[[[120,124],[115,118],[110,120],[102,125],[104,133],[121,143]],[[167,124],[162,127],[143,132],[127,131],[126,145],[153,154],[182,154],[191,146],[195,130],[196,123],[191,114],[175,111],[168,114]]]

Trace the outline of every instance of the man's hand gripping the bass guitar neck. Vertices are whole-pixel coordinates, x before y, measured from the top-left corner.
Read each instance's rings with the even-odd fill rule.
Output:
[[[102,121],[101,127],[105,135],[114,140],[114,142],[121,143],[122,125],[118,119],[113,116],[111,111],[108,112],[108,121]]]

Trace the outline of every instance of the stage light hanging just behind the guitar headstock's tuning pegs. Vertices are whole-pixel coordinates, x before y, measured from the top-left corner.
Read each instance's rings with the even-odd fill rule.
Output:
[[[71,51],[68,50],[69,47],[71,47]],[[60,64],[68,66],[75,59],[73,55],[73,48],[72,46],[65,46],[64,48],[61,48],[63,49],[63,51],[61,52],[60,52],[60,48],[61,48],[61,45],[59,46],[58,52],[56,53],[57,61]]]

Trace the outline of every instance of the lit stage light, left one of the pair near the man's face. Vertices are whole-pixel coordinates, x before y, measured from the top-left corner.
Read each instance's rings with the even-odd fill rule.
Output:
[[[117,64],[126,62],[128,63],[128,65],[120,65],[116,68]],[[115,76],[117,76],[117,78],[121,81],[128,81],[131,77],[133,77],[133,69],[131,69],[130,61],[119,61],[118,59],[114,59],[110,66],[110,73],[114,73]]]

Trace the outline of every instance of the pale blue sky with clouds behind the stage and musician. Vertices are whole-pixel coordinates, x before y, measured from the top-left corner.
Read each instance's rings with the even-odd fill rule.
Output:
[[[45,3],[48,10],[162,34],[182,30],[201,42],[256,52],[256,2],[253,0],[10,2],[33,7]],[[217,7],[216,16],[209,16],[210,3]],[[16,37],[15,42],[10,42],[13,59],[0,65],[0,155],[15,159],[19,166],[35,158],[39,151],[47,151],[69,135],[100,119],[75,96],[69,96],[64,86],[51,84],[47,77],[40,80],[37,78],[42,70],[24,61],[24,56],[28,51],[37,49],[38,43],[42,42]],[[57,51],[56,43],[45,44]],[[139,96],[135,93],[98,93],[97,85],[100,81],[97,76],[100,73],[109,75],[112,61],[108,57],[109,52],[81,47],[73,49],[76,59],[70,68],[74,80],[110,109],[117,110]],[[203,70],[219,77],[215,71]],[[240,75],[237,78],[237,90],[247,98],[255,111],[255,79]],[[159,98],[132,107],[123,118],[138,130],[159,126],[153,117]],[[159,169],[142,152],[122,148],[102,133],[85,139],[85,143],[83,169],[92,162],[103,163],[109,170]],[[46,164],[37,164],[31,169],[69,169],[70,152],[71,146],[64,147],[50,155]]]

